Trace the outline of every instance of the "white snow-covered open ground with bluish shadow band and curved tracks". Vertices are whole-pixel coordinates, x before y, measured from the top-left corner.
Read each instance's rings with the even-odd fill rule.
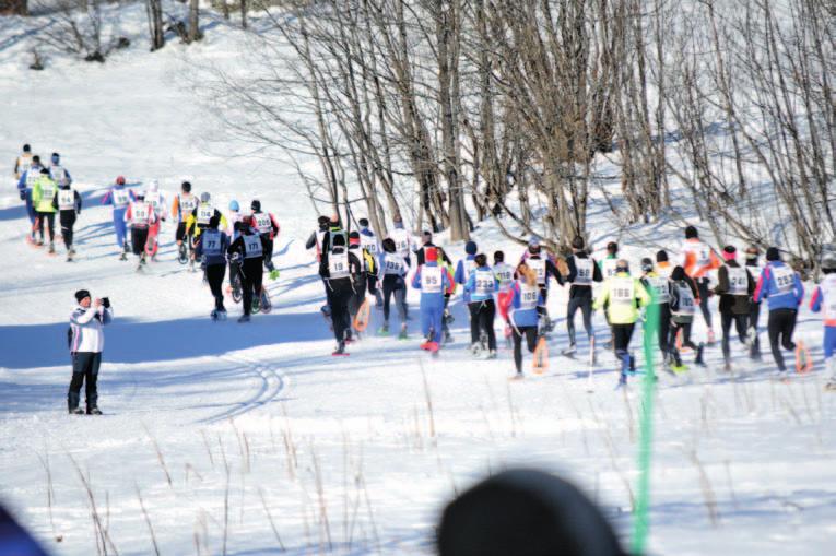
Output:
[[[127,12],[137,33],[141,15]],[[213,23],[189,55],[234,58],[238,33]],[[108,553],[149,554],[155,543],[163,554],[432,554],[445,501],[518,464],[578,482],[626,541],[638,388],[614,391],[613,359],[601,352],[588,393],[586,365],[555,355],[566,343],[565,292],[550,299],[558,333],[543,377],[509,382],[504,345],[497,360],[474,360],[460,300],[456,342],[438,359],[417,350],[416,317],[410,340],[367,338],[333,358],[322,286],[303,247],[317,214],[290,167],[200,149],[210,119],[176,79],[185,47],[151,55],[134,46],[104,66],[58,59],[36,73],[25,70],[20,34],[0,25],[0,73],[11,76],[0,81],[0,154],[11,164],[23,142],[45,157],[59,151],[85,200],[78,261],[67,263],[61,247],[49,257],[24,241],[27,220],[8,175],[0,189],[0,499],[50,552],[90,555],[104,543]],[[211,322],[201,275],[175,260],[170,222],[146,273],[117,260],[98,199],[119,174],[157,178],[169,193],[189,177],[221,206],[261,199],[282,225],[273,312],[240,326],[229,300],[231,320]],[[598,246],[621,236],[633,258],[656,250],[612,229],[602,204],[592,211]],[[492,226],[476,240],[519,253]],[[66,414],[64,333],[81,287],[109,296],[116,312],[101,418]],[[604,330],[601,316],[596,326]],[[786,385],[770,380],[767,346],[757,365],[734,346],[733,377],[719,371],[719,345],[708,369],[661,376],[651,553],[832,551],[836,397],[822,389],[820,329],[802,310],[798,335],[817,367]],[[695,333],[705,333],[699,319]],[[96,520],[106,533],[96,534]]]

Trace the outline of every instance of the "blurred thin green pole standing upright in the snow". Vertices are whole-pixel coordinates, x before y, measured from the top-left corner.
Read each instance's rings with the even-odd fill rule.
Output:
[[[650,448],[654,435],[654,388],[656,387],[656,374],[654,371],[654,339],[659,335],[659,306],[656,301],[656,292],[650,292],[652,301],[648,306],[647,320],[644,326],[645,348],[645,380],[641,388],[641,410],[639,414],[639,439],[638,439],[638,485],[636,488],[636,511],[633,516],[632,553],[640,555],[645,553],[649,523],[647,519],[650,506]]]

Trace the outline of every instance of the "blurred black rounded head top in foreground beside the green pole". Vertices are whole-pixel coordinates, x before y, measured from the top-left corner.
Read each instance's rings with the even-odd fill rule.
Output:
[[[610,523],[575,485],[510,470],[462,493],[444,510],[440,556],[626,556]]]

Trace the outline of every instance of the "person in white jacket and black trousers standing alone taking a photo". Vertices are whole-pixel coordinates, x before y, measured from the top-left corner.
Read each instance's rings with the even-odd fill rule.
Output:
[[[114,319],[114,310],[107,297],[93,298],[86,289],[75,292],[79,306],[70,316],[68,340],[72,356],[72,380],[67,394],[70,414],[83,415],[79,407],[81,386],[85,385],[84,393],[87,403],[87,415],[102,415],[98,409],[98,392],[96,380],[98,367],[102,364],[102,350],[105,347],[105,334],[102,328]]]

